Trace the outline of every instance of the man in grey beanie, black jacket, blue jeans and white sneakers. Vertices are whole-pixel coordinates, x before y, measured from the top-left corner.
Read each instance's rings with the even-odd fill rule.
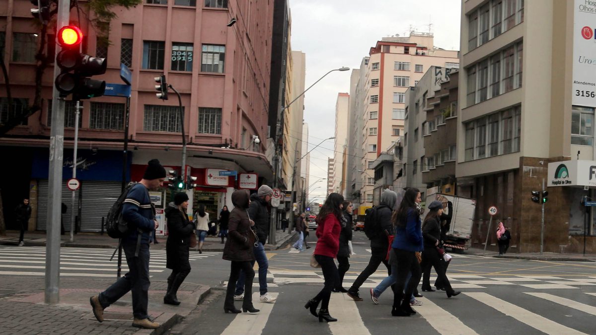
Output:
[[[253,230],[256,230],[258,241],[254,244],[254,258],[259,264],[259,291],[260,301],[272,303],[276,298],[267,292],[267,270],[269,269],[269,260],[265,255],[265,247],[269,235],[269,207],[273,190],[267,185],[261,185],[257,193],[250,196],[249,217],[254,221]],[[254,265],[254,260],[253,260]],[[236,294],[234,300],[244,299],[244,276],[240,275],[236,284]]]

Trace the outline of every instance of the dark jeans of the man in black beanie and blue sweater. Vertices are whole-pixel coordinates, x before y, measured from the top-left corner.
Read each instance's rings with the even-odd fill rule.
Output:
[[[116,283],[100,293],[100,303],[107,308],[117,302],[128,291],[132,291],[132,314],[137,319],[146,319],[147,304],[149,302],[149,244],[141,243],[139,256],[135,257],[136,241],[122,242],[122,249],[126,255],[128,272],[120,277]]]

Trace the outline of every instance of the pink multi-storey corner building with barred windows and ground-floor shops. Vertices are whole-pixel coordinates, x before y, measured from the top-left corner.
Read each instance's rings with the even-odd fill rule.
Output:
[[[14,100],[9,108],[6,80],[1,76],[2,124],[33,103],[35,53],[41,36],[29,13],[30,2],[0,0],[0,7],[6,8],[6,14],[0,16],[0,56],[7,67]],[[231,206],[229,197],[231,190],[239,186],[238,181],[234,176],[226,177],[226,181],[210,180],[209,175],[218,169],[254,173],[259,185],[271,180],[271,163],[264,152],[268,137],[273,7],[272,1],[146,0],[130,10],[114,10],[117,18],[110,23],[109,46],[102,45],[100,36],[85,21],[86,15],[80,15],[83,21],[79,22],[76,10],[72,11],[71,23],[78,24],[86,36],[83,52],[107,58],[107,72],[94,78],[123,84],[120,63],[132,72],[126,179],[131,175],[135,179],[151,158],[158,158],[171,168],[181,165],[178,98],[171,90],[167,101],[155,95],[154,77],[165,74],[167,83],[181,93],[184,106],[186,163],[190,166],[187,170],[199,177],[195,206],[206,204],[212,216],[224,204]],[[228,26],[232,18],[237,23]],[[48,28],[49,34],[54,31],[54,27]],[[48,41],[45,49],[53,54],[54,35],[48,35]],[[13,200],[7,200],[10,195],[15,200],[30,196],[36,211],[30,229],[45,229],[52,72],[50,64],[42,80],[41,111],[30,116],[24,125],[0,134],[2,157],[23,157],[11,164],[14,178],[0,182],[5,207],[14,207],[10,202]],[[82,184],[77,194],[77,214],[83,231],[98,231],[102,213],[105,216],[105,208],[120,193],[126,98],[93,98],[82,105],[77,161],[85,163],[84,169],[77,172]],[[68,165],[70,157],[72,166],[74,120],[74,102],[67,101],[65,179],[72,170]],[[69,204],[70,193],[65,191],[63,201],[66,200]],[[65,221],[67,216],[70,218],[69,213]]]

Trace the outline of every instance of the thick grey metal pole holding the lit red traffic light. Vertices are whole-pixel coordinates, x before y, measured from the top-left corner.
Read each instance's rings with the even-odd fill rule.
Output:
[[[58,0],[56,29],[69,24],[70,1]],[[56,44],[55,56],[60,52]],[[55,63],[54,63],[55,64]],[[60,75],[60,67],[54,66],[54,79]],[[52,80],[53,82],[54,80]],[[52,128],[49,135],[48,170],[48,229],[45,247],[45,303],[60,302],[60,222],[62,205],[62,164],[64,154],[64,99],[58,90],[52,91]]]

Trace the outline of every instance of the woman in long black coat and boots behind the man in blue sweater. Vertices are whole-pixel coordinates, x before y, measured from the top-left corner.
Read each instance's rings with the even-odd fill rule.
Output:
[[[188,220],[187,209],[188,196],[179,192],[175,194],[174,202],[165,210],[169,232],[166,242],[166,268],[172,269],[172,274],[167,278],[167,293],[163,297],[163,303],[168,305],[180,305],[176,293],[184,278],[190,273],[188,247],[195,227],[193,222]]]

